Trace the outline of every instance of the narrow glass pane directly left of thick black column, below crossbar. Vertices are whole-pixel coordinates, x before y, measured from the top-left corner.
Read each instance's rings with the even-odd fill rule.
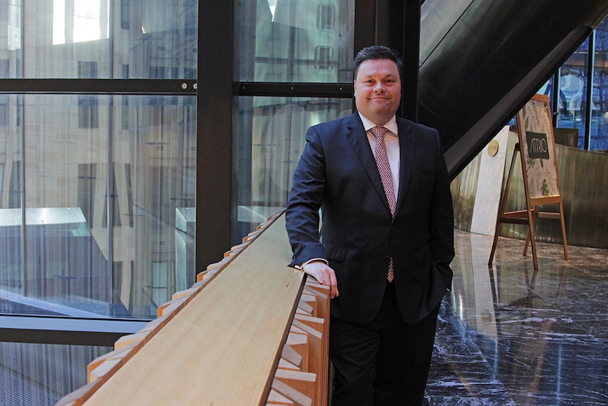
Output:
[[[122,121],[112,145],[120,208],[112,245],[123,263],[115,301],[130,316],[155,318],[171,294],[195,282],[196,100],[115,100]]]

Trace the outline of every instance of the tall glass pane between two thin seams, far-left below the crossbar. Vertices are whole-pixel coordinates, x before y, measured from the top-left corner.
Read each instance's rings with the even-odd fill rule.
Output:
[[[28,95],[23,108],[24,310],[109,316],[109,99]]]

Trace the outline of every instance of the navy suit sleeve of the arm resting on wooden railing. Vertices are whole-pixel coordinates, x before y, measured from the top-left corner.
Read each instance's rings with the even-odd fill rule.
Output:
[[[285,212],[289,244],[293,251],[290,266],[313,258],[327,261],[320,241],[320,208],[326,185],[325,160],[315,127],[306,132],[306,145],[293,174],[293,186]]]

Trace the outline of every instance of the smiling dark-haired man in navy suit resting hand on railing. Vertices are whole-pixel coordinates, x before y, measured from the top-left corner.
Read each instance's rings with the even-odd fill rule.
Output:
[[[449,176],[437,131],[395,117],[402,65],[387,47],[359,52],[357,112],[308,129],[288,197],[291,266],[332,298],[332,406],[420,406],[451,288]]]

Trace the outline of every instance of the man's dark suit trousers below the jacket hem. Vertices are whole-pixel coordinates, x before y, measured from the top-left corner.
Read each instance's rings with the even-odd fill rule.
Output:
[[[332,406],[420,406],[433,352],[439,306],[418,323],[403,321],[394,284],[370,323],[329,323],[334,364]]]

